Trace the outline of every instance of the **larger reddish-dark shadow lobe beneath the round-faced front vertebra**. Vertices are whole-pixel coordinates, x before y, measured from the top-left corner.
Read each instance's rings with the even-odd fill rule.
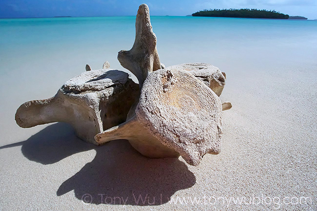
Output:
[[[196,183],[177,158],[145,158],[125,140],[96,151],[94,160],[63,182],[57,195],[74,190],[86,203],[149,206],[167,203],[175,192]]]

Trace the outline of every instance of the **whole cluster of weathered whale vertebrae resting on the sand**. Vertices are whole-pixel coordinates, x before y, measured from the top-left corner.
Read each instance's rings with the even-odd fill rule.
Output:
[[[139,86],[122,71],[91,70],[86,65],[87,72],[67,81],[54,97],[21,105],[16,122],[21,127],[67,122],[84,141],[99,145],[127,139],[144,156],[181,155],[191,165],[198,165],[206,153],[218,154],[222,110],[232,107],[218,98],[226,74],[204,63],[164,69],[156,42],[149,8],[142,4],[135,43],[130,51],[118,54],[121,65],[137,76]],[[103,64],[109,67],[109,62]]]

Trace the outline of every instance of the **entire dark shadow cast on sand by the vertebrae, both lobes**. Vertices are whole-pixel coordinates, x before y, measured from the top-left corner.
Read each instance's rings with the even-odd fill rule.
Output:
[[[26,158],[42,164],[95,149],[96,157],[64,181],[57,191],[60,196],[74,190],[75,196],[85,203],[160,205],[169,202],[178,190],[196,183],[194,174],[177,158],[145,158],[126,140],[94,146],[77,138],[66,123],[47,126],[26,141],[0,149],[19,145]],[[60,171],[65,170],[67,167]]]

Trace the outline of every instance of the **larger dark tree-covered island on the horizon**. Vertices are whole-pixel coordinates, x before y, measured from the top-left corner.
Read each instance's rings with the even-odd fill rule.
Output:
[[[274,19],[288,19],[289,15],[268,10],[258,9],[210,9],[203,10],[192,14],[193,16],[202,17],[225,17],[225,18],[274,18]]]

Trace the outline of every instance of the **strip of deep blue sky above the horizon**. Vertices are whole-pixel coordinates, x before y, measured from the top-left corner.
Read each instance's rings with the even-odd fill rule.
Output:
[[[134,16],[141,3],[154,16],[185,16],[203,9],[256,8],[317,18],[317,0],[0,0],[0,18]]]

